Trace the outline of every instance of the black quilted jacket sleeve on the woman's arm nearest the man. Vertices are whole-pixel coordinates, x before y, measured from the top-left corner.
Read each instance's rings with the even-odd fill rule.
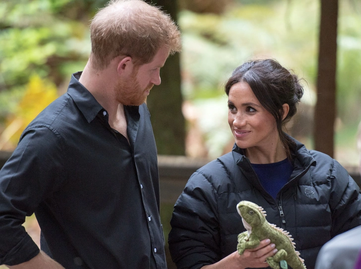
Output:
[[[199,170],[175,204],[169,249],[177,268],[199,269],[220,260],[217,193]]]

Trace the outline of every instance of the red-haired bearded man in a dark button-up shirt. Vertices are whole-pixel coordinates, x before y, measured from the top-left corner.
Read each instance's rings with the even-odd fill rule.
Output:
[[[0,171],[0,264],[11,269],[166,268],[157,152],[144,101],[180,51],[168,15],[115,0],[68,91],[24,130]],[[25,232],[35,212],[41,249]]]

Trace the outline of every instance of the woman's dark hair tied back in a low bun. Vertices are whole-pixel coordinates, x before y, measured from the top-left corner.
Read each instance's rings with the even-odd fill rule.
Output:
[[[238,82],[248,83],[261,105],[276,119],[281,142],[288,158],[292,160],[291,148],[295,143],[283,133],[282,126],[297,112],[297,104],[303,95],[300,79],[277,61],[267,59],[246,62],[237,67],[226,83],[227,95],[229,95],[231,87]],[[290,107],[284,120],[282,120],[283,104],[288,104]]]

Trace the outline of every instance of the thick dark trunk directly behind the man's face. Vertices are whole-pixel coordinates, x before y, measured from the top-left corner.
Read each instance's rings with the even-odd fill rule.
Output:
[[[177,21],[177,1],[148,1],[161,6]],[[162,83],[154,86],[147,99],[158,154],[185,154],[185,121],[181,112],[180,55],[170,56],[161,68]]]

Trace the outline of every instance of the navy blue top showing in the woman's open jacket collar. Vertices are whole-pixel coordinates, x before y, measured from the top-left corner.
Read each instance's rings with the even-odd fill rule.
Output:
[[[256,172],[262,187],[274,199],[276,199],[278,192],[289,181],[294,170],[293,165],[287,158],[275,163],[251,163],[251,166],[254,172]]]

